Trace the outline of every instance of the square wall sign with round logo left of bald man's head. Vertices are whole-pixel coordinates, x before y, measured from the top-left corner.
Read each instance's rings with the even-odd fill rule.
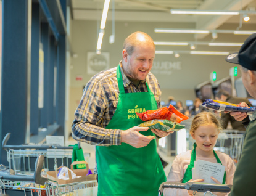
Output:
[[[109,69],[109,52],[87,52],[87,74],[96,74]]]

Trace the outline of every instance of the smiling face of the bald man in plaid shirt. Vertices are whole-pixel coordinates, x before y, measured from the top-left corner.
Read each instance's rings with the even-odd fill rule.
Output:
[[[136,46],[131,55],[127,57],[125,71],[134,80],[145,80],[152,68],[155,58],[155,47],[152,44]]]

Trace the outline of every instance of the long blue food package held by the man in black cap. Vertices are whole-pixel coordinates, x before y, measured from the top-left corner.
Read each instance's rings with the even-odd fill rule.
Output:
[[[247,112],[248,115],[254,113],[255,107],[241,107],[236,104],[231,104],[228,102],[221,102],[219,100],[205,99],[205,102],[202,103],[202,106],[210,110],[217,111],[230,111],[230,112]]]

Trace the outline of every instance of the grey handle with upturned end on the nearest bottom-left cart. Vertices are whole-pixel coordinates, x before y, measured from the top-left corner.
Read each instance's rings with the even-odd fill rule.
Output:
[[[44,185],[45,182],[48,181],[48,178],[41,176],[41,171],[43,169],[44,164],[44,155],[39,155],[36,159],[35,163],[35,173],[33,176],[26,176],[26,175],[14,175],[8,174],[4,171],[0,171],[0,177],[3,180],[9,181],[25,181],[25,182],[35,182],[36,184]]]

